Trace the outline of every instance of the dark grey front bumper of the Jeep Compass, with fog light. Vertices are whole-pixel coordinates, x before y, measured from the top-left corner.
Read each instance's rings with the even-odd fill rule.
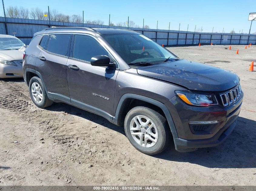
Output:
[[[172,131],[175,149],[180,152],[221,144],[234,130],[243,94],[233,105],[195,107],[183,103],[177,96],[165,103],[176,132]]]

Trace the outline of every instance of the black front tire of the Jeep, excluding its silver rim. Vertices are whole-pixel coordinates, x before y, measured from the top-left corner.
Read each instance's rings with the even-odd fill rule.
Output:
[[[155,124],[158,132],[158,139],[154,146],[146,148],[135,141],[130,131],[130,123],[135,116],[146,116]],[[131,144],[140,152],[148,155],[158,154],[165,150],[170,142],[170,128],[167,120],[160,113],[148,107],[138,106],[132,108],[125,117],[125,134]],[[137,126],[137,125],[136,125]],[[138,131],[134,131],[138,132]],[[142,139],[143,140],[143,139]]]

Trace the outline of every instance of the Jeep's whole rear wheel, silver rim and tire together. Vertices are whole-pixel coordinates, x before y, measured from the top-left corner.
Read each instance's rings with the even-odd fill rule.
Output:
[[[30,97],[37,107],[44,108],[52,105],[53,102],[49,100],[40,78],[36,76],[32,77],[28,87]]]

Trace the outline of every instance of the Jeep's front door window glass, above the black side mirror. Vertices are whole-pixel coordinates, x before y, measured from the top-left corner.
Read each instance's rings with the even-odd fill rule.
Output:
[[[86,35],[75,35],[73,58],[90,62],[91,57],[97,55],[108,56],[108,52],[94,38]]]

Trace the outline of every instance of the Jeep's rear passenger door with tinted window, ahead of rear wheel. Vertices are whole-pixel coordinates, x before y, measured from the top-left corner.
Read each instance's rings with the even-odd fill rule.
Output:
[[[49,34],[35,64],[35,70],[42,75],[50,96],[69,103],[66,64],[71,38],[71,34]]]

